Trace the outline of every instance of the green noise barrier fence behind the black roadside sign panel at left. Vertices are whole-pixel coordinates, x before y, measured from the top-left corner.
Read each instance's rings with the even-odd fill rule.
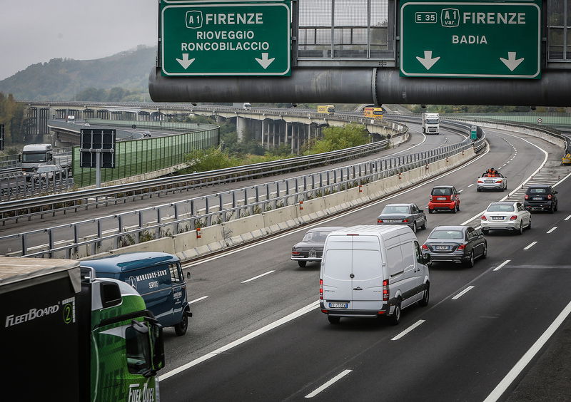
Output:
[[[180,127],[181,123],[178,125]],[[118,180],[179,165],[185,162],[186,155],[191,151],[218,145],[219,136],[220,129],[216,126],[194,133],[118,142],[115,150],[116,168],[101,169],[101,181]],[[79,187],[93,185],[96,170],[81,168],[79,154],[79,147],[74,147],[74,183]]]

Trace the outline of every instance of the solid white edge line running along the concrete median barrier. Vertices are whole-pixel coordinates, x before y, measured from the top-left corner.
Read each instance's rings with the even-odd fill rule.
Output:
[[[371,204],[363,205],[363,207],[359,207],[359,208],[357,208],[357,209],[355,209],[355,210],[351,210],[351,211],[345,212],[345,213],[343,213],[343,214],[336,215],[335,217],[330,217],[330,218],[328,218],[328,219],[326,219],[326,220],[322,220],[322,221],[320,221],[320,222],[315,222],[315,223],[313,223],[313,224],[311,224],[311,225],[305,225],[305,226],[303,226],[303,227],[300,227],[299,229],[291,230],[290,232],[287,232],[287,233],[278,234],[278,236],[271,237],[270,239],[266,239],[266,240],[263,240],[263,241],[261,241],[261,242],[256,242],[256,243],[254,243],[254,244],[248,244],[247,246],[240,247],[240,248],[238,248],[238,249],[234,249],[234,250],[229,251],[229,252],[224,252],[224,253],[218,254],[218,255],[216,255],[216,256],[214,256],[214,257],[207,258],[207,259],[201,259],[201,261],[193,262],[193,263],[191,263],[191,264],[183,264],[183,268],[196,267],[196,265],[205,264],[206,262],[211,262],[211,261],[214,261],[215,259],[219,259],[219,258],[222,258],[222,257],[228,257],[228,255],[236,254],[237,252],[243,252],[243,251],[246,250],[246,249],[251,249],[252,247],[258,247],[258,246],[261,246],[262,244],[266,244],[266,243],[268,243],[268,242],[273,242],[274,240],[277,240],[277,239],[281,239],[281,238],[283,238],[283,237],[290,236],[290,234],[295,234],[295,233],[298,233],[298,232],[307,232],[307,231],[308,231],[309,229],[311,229],[312,227],[323,226],[323,224],[328,223],[328,222],[331,222],[331,221],[333,221],[333,220],[338,220],[338,219],[340,219],[340,218],[342,218],[342,217],[346,217],[346,216],[348,216],[348,215],[354,214],[355,212],[359,212],[359,211],[362,211],[362,210],[366,210],[367,208],[374,207],[375,205],[383,204],[383,202],[386,202],[387,200],[392,200],[392,199],[395,198],[395,197],[400,197],[401,195],[406,194],[407,192],[411,192],[411,191],[413,191],[413,190],[417,190],[418,188],[423,187],[423,185],[426,185],[426,184],[428,184],[428,183],[430,183],[430,182],[435,182],[436,180],[440,180],[442,177],[445,177],[445,176],[448,176],[448,175],[452,175],[453,173],[457,172],[458,170],[463,169],[463,168],[465,168],[466,166],[472,165],[473,163],[477,162],[477,160],[480,160],[480,158],[483,158],[483,157],[484,157],[485,155],[487,155],[487,153],[489,153],[489,152],[490,152],[490,147],[487,147],[485,153],[482,153],[482,155],[479,155],[479,156],[477,156],[476,158],[474,158],[473,160],[470,160],[470,162],[465,163],[465,164],[462,165],[462,166],[458,166],[458,168],[455,168],[455,169],[453,169],[453,170],[450,170],[450,172],[446,172],[446,173],[444,173],[443,175],[439,175],[438,177],[433,177],[433,178],[430,179],[430,180],[425,180],[425,181],[419,183],[418,185],[415,185],[415,186],[413,186],[413,187],[410,187],[408,190],[400,191],[400,192],[398,192],[398,193],[396,193],[396,194],[389,195],[388,197],[383,197],[383,198],[381,198],[380,200],[375,201],[375,202],[373,202],[373,203],[371,203]],[[428,208],[428,205],[427,205],[427,208]],[[483,212],[482,212],[482,213],[483,213]],[[479,215],[482,215],[482,213],[480,213]],[[465,224],[463,224],[463,225],[465,225]]]

